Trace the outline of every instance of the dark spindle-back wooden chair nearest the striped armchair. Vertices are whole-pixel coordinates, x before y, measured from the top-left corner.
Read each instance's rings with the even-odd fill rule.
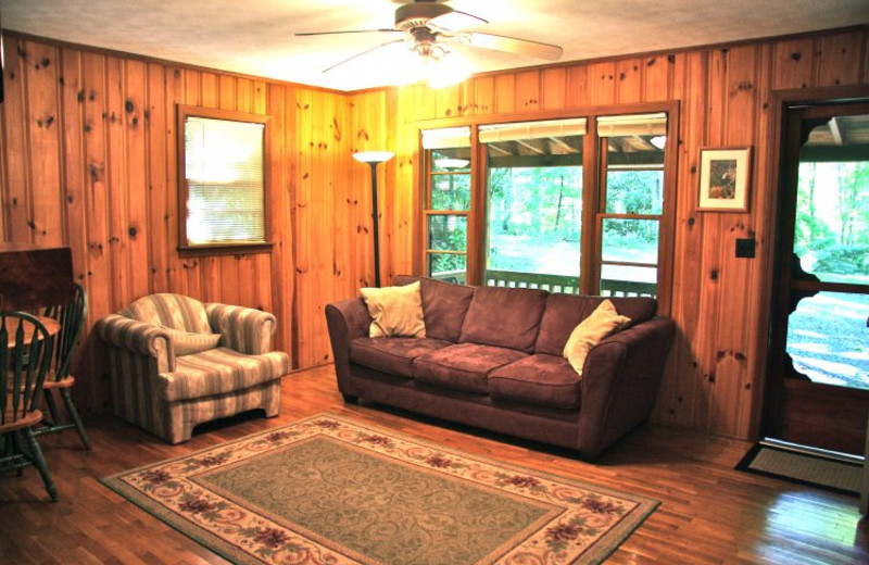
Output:
[[[51,357],[51,368],[46,377],[45,399],[48,407],[49,417],[42,420],[42,426],[36,430],[36,435],[63,431],[64,429],[75,428],[81,438],[85,449],[90,449],[90,440],[81,424],[78,410],[75,407],[71,389],[75,385],[75,377],[70,375],[70,363],[73,359],[78,338],[81,336],[81,328],[87,317],[88,301],[85,289],[81,285],[75,285],[75,298],[68,304],[51,306],[46,309],[43,315],[53,318],[60,324],[61,329],[54,336],[54,354]],[[61,423],[61,415],[58,411],[55,395],[60,395],[66,407],[66,415],[72,422]]]

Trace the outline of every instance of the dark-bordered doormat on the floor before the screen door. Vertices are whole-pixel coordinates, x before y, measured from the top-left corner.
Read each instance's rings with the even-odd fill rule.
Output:
[[[846,494],[859,494],[862,465],[757,443],[736,469],[819,487]]]

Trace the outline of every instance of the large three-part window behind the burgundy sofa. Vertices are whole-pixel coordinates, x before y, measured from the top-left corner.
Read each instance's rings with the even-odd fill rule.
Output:
[[[657,296],[667,114],[437,128],[423,140],[429,276]]]

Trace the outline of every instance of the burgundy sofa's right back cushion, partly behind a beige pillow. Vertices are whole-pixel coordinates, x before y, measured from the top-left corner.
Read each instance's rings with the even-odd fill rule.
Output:
[[[546,298],[546,311],[540,322],[534,353],[561,355],[574,328],[607,298],[616,306],[616,312],[631,318],[627,327],[652,318],[658,309],[657,301],[647,297],[585,297],[554,292]]]

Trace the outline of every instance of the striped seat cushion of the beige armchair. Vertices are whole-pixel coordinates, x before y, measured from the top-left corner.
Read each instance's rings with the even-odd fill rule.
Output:
[[[228,348],[215,348],[176,357],[174,372],[156,375],[156,390],[166,402],[240,393],[279,379],[289,372],[290,357],[282,351],[245,355]]]

